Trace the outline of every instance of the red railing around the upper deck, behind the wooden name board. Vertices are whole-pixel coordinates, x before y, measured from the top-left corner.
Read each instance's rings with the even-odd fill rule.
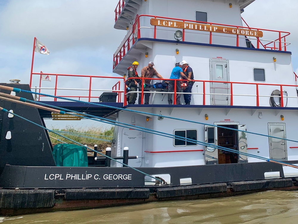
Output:
[[[118,7],[118,6],[117,6]],[[133,24],[132,30],[128,32],[128,34],[125,36],[123,39],[121,45],[118,47],[117,51],[114,54],[114,63],[113,63],[113,69],[119,64],[119,62],[123,59],[125,54],[128,52],[128,50],[131,48],[131,46],[136,42],[137,39],[141,38],[141,28],[149,28],[153,29],[153,39],[156,39],[157,36],[157,31],[159,29],[156,28],[156,26],[150,25],[150,23],[146,23],[143,26],[140,26],[140,18],[142,17],[151,17],[154,19],[168,19],[168,20],[173,20],[173,21],[180,21],[180,22],[192,22],[192,23],[203,23],[203,24],[208,24],[208,25],[218,25],[218,26],[225,26],[225,27],[233,27],[235,29],[247,29],[247,30],[255,30],[255,31],[265,31],[265,32],[273,32],[276,33],[278,38],[275,40],[260,40],[259,37],[255,39],[256,43],[256,48],[260,49],[263,47],[263,49],[270,49],[270,50],[284,50],[286,51],[286,46],[289,44],[286,42],[286,36],[290,35],[289,32],[284,32],[284,31],[277,31],[277,30],[267,30],[267,29],[259,29],[259,28],[253,28],[253,27],[243,27],[243,26],[234,26],[234,25],[228,25],[228,24],[219,24],[219,23],[208,23],[208,22],[199,22],[195,20],[186,20],[186,19],[175,19],[175,18],[168,18],[168,17],[162,17],[162,16],[150,16],[150,15],[140,15],[138,19],[136,19],[135,23]],[[245,21],[244,21],[245,22]],[[246,22],[245,22],[246,23]],[[248,26],[248,25],[247,25]],[[163,30],[166,28],[173,28],[173,27],[162,27]],[[182,29],[182,41],[187,41],[186,38],[186,29]],[[173,31],[173,30],[169,30]],[[199,30],[198,30],[199,31]],[[209,44],[212,44],[212,32],[206,32],[209,33]],[[192,33],[193,34],[193,33]],[[202,33],[197,33],[198,35],[203,35]],[[216,36],[216,34],[220,35],[221,33],[213,33],[213,36]],[[235,34],[226,34],[230,35],[231,37],[236,38],[235,46],[239,47],[239,39],[241,38],[240,36],[242,35],[235,35]],[[248,35],[247,35],[248,36]],[[148,37],[148,36],[145,36]],[[243,36],[244,39],[246,38]],[[158,38],[157,38],[158,39]],[[159,38],[160,39],[160,38]],[[261,41],[267,41],[269,43],[263,44]],[[192,41],[193,42],[193,41]],[[276,46],[276,43],[278,43],[278,46]],[[269,46],[273,45],[273,46]],[[284,46],[283,46],[284,45]]]

